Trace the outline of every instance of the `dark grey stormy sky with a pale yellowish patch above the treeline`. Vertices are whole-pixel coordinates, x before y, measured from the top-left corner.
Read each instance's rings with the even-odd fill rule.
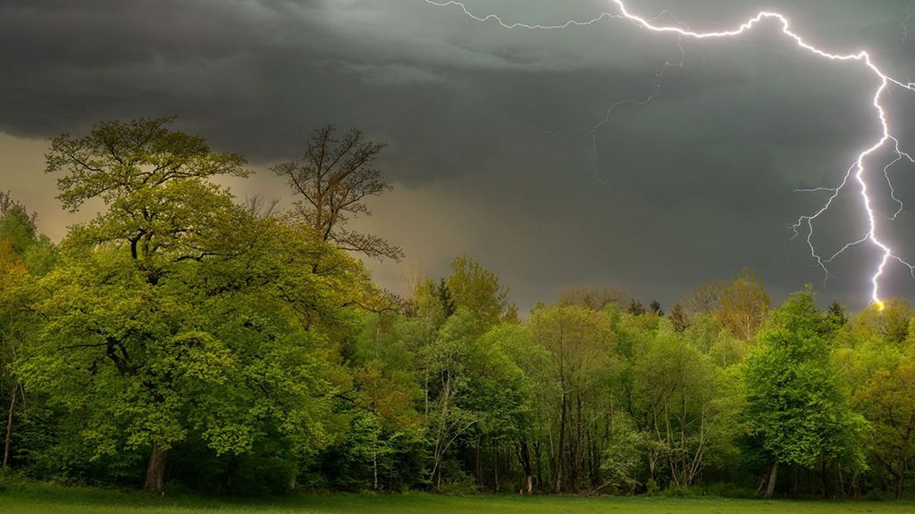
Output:
[[[614,12],[608,0],[467,0],[479,16],[557,24]],[[915,77],[912,0],[630,0],[699,30],[762,8],[833,52],[867,49],[899,80]],[[912,19],[909,19],[909,18]],[[662,17],[662,20],[669,19]],[[909,23],[911,21],[911,23]],[[907,36],[911,32],[911,37]],[[378,167],[393,193],[360,227],[404,247],[367,262],[394,291],[440,276],[467,252],[526,310],[582,285],[669,306],[694,286],[753,268],[773,299],[815,284],[825,300],[866,305],[879,258],[861,245],[823,284],[791,223],[812,214],[879,138],[877,83],[859,63],[817,58],[763,24],[745,37],[684,40],[607,19],[554,31],[505,29],[423,0],[2,0],[0,189],[38,211],[55,239],[92,213],[64,213],[43,173],[48,138],[92,123],[178,115],[176,126],[245,155],[258,170],[239,197],[289,201],[267,168],[297,158],[321,125],[388,143]],[[889,122],[915,153],[915,93],[888,92]],[[891,155],[882,155],[888,163]],[[875,163],[875,166],[877,163]],[[915,210],[896,206],[873,169],[881,237],[915,260]],[[915,165],[890,168],[915,205]],[[813,238],[824,255],[866,233],[856,189]],[[886,295],[915,279],[888,267]]]

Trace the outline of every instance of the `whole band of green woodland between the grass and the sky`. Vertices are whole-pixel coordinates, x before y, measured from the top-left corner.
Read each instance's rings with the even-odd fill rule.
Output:
[[[915,322],[752,272],[645,306],[608,287],[519,314],[457,256],[405,298],[350,229],[390,187],[383,145],[318,131],[274,166],[290,209],[171,119],[98,123],[48,149],[59,243],[0,197],[7,473],[274,494],[442,492],[905,497],[915,491]],[[87,207],[84,204],[90,202]]]

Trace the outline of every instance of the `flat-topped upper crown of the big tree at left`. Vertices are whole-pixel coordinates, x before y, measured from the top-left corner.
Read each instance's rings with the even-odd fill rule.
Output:
[[[135,261],[148,265],[152,283],[158,273],[153,257],[208,255],[201,239],[232,206],[231,196],[208,179],[249,174],[241,155],[214,153],[204,138],[170,130],[173,121],[98,123],[83,137],[55,137],[47,155],[64,208],[75,211],[92,198],[107,207],[73,235],[127,245]]]

